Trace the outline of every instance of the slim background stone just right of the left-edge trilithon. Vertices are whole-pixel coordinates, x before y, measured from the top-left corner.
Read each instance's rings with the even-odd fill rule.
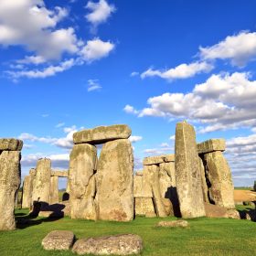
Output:
[[[33,183],[36,176],[36,170],[31,169],[29,175],[25,176],[22,186],[22,208],[32,206]]]

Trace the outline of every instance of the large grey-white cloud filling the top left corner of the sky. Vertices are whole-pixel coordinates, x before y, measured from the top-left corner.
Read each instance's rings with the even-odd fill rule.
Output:
[[[56,6],[49,10],[43,0],[0,2],[0,44],[25,46],[44,59],[59,59],[64,52],[78,51],[72,27],[56,29],[68,10]],[[22,21],[22,22],[21,22]]]

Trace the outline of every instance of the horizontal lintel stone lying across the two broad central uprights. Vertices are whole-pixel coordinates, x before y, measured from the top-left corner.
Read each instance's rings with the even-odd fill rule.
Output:
[[[103,144],[117,139],[128,139],[131,129],[125,124],[99,126],[73,134],[74,144]]]

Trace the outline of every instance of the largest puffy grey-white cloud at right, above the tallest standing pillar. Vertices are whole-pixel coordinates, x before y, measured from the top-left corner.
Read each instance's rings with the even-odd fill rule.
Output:
[[[143,116],[160,116],[194,120],[204,125],[199,132],[235,129],[256,124],[256,81],[250,74],[212,75],[189,93],[164,93],[149,98],[150,107],[137,111],[126,105],[125,112]]]

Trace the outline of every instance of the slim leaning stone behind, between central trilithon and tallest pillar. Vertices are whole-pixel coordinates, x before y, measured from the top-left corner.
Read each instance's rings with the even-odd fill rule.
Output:
[[[159,166],[144,165],[144,179],[152,187],[155,212],[158,217],[166,217],[165,205],[162,200],[159,184]]]

